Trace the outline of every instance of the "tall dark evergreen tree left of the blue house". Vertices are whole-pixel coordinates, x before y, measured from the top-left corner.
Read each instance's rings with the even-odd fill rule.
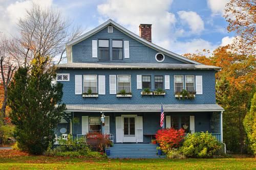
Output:
[[[18,147],[31,154],[41,154],[54,139],[54,128],[66,109],[61,102],[62,84],[52,84],[54,69],[49,58],[36,56],[32,68],[20,67],[10,85],[8,104],[15,125]]]

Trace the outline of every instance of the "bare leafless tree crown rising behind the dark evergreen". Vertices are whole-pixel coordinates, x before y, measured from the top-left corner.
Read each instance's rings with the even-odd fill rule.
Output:
[[[71,27],[60,11],[51,7],[42,8],[33,4],[26,11],[25,17],[19,19],[19,45],[14,46],[19,54],[19,64],[31,63],[36,55],[49,57],[61,62],[65,58],[66,42],[81,35],[80,27]]]

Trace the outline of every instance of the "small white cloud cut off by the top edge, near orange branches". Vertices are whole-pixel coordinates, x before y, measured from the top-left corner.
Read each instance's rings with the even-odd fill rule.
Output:
[[[211,9],[212,15],[223,15],[228,2],[229,0],[207,0],[207,5]]]

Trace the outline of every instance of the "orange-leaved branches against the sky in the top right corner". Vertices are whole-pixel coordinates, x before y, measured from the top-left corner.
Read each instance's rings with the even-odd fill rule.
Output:
[[[236,32],[233,50],[244,54],[256,54],[256,2],[254,0],[230,0],[226,5],[227,30]]]

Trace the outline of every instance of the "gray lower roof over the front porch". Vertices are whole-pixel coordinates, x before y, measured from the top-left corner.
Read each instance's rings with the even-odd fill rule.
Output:
[[[131,105],[131,104],[114,104],[114,105],[66,105],[67,111],[70,112],[159,112],[161,105]],[[217,104],[167,104],[163,105],[165,112],[207,112],[207,111],[224,111]]]

